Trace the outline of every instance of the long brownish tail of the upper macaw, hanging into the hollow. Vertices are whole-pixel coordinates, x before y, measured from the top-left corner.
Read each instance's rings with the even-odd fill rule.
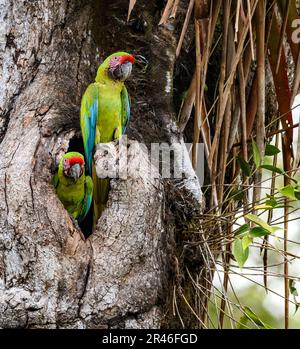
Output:
[[[93,183],[94,183],[94,216],[93,216],[93,230],[96,229],[98,219],[100,218],[102,212],[106,208],[106,203],[108,199],[109,192],[109,182],[107,179],[99,179],[96,174],[95,166],[93,166]]]

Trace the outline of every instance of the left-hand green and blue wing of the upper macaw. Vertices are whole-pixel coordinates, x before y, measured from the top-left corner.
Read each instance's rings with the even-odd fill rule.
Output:
[[[87,172],[92,174],[92,161],[95,146],[96,123],[99,105],[98,84],[91,84],[85,91],[80,109],[80,126],[82,132]]]

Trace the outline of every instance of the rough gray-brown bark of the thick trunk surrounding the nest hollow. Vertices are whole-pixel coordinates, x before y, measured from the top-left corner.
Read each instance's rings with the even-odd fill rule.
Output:
[[[149,80],[137,71],[131,83],[129,135],[182,141],[172,110],[174,33],[154,30],[155,6],[141,3],[146,34],[126,29],[126,37],[127,1],[0,0],[2,328],[161,325],[175,229],[165,222],[161,181],[114,180],[87,240],[51,185],[53,166],[78,134],[82,92],[111,51],[144,45],[138,53],[150,60]],[[199,199],[195,174],[186,172]]]

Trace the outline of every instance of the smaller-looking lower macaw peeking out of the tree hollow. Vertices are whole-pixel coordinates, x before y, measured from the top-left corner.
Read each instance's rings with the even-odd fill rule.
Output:
[[[87,215],[93,197],[93,181],[85,176],[84,157],[80,153],[66,153],[53,178],[56,193],[65,209],[82,222]]]

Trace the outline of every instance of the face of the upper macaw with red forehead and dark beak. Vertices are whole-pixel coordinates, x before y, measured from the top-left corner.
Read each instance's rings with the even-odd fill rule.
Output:
[[[108,69],[110,77],[119,81],[127,80],[131,75],[133,63],[132,55],[112,57]]]

